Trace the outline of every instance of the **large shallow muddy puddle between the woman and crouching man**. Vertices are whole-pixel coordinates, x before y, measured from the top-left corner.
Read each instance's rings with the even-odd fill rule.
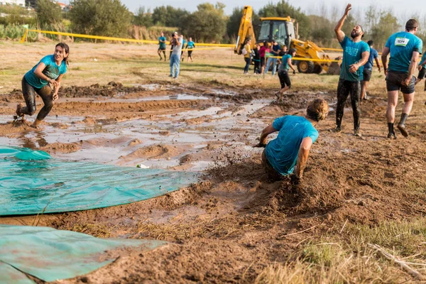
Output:
[[[249,116],[268,103],[258,100],[229,107],[224,102],[221,107],[158,115],[149,120],[48,116],[42,129],[1,137],[0,142],[41,149],[66,160],[202,171],[211,165],[224,141],[227,146],[240,148],[245,148],[248,141],[256,142],[264,123]],[[10,116],[0,116],[0,123],[7,121]]]

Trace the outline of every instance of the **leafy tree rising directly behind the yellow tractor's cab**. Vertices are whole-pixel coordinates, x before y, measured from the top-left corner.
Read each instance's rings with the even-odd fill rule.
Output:
[[[300,11],[300,8],[291,6],[288,1],[281,0],[277,4],[269,3],[259,10],[261,17],[287,17],[295,18],[299,23],[299,35],[301,38],[308,38],[310,35],[310,19]]]

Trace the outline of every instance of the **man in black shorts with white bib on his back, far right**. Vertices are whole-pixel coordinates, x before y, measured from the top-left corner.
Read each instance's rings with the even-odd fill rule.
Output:
[[[386,89],[388,91],[388,138],[396,139],[393,123],[395,121],[395,109],[398,104],[399,90],[403,92],[404,106],[398,129],[403,136],[408,136],[405,121],[413,108],[415,77],[417,60],[422,53],[423,42],[415,36],[418,23],[410,19],[405,23],[405,31],[394,33],[386,41],[382,52],[383,70],[386,74]],[[388,54],[391,54],[388,66]]]

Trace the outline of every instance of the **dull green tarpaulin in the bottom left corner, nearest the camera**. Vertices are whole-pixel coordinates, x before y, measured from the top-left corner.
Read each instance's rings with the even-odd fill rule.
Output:
[[[129,246],[152,250],[165,244],[154,240],[99,239],[38,226],[0,225],[0,283],[33,283],[24,273],[44,281],[74,278],[116,259],[106,251]]]

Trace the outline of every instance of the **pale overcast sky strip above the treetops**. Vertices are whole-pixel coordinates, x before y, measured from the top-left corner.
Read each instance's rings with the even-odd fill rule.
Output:
[[[134,12],[139,6],[146,6],[151,8],[151,11],[156,6],[170,5],[177,8],[186,9],[188,11],[197,10],[197,5],[204,2],[216,3],[212,0],[121,0],[130,11]],[[265,6],[268,2],[277,3],[278,0],[222,0],[220,1],[226,5],[225,11],[227,14],[232,13],[234,7],[241,7],[250,5],[253,9],[258,10]],[[289,3],[295,7],[300,7],[302,11],[306,13],[316,13],[320,10],[320,6],[325,4],[326,6],[339,6],[342,7],[342,12],[347,3],[351,3],[354,7],[360,8],[360,10],[366,9],[371,4],[376,4],[382,9],[392,9],[396,13],[406,14],[408,17],[420,13],[420,11],[426,11],[426,3],[420,0],[356,0],[356,1],[345,1],[345,0],[289,0]]]

